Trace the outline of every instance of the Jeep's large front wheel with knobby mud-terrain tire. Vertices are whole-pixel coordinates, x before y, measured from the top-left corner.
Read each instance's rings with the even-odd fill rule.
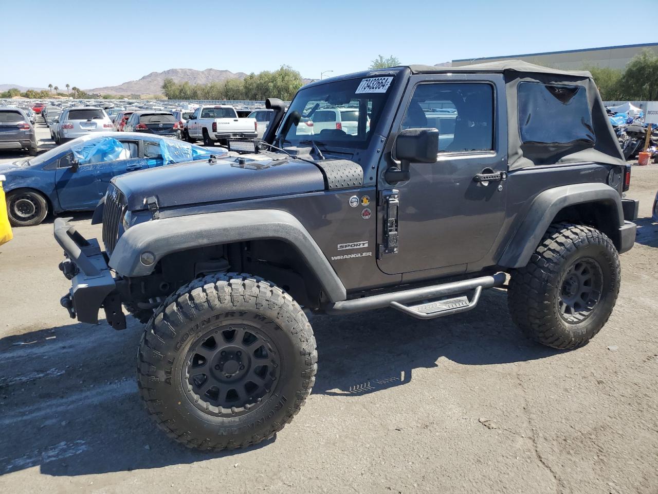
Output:
[[[169,296],[145,328],[138,381],[149,414],[188,447],[272,437],[315,382],[313,330],[288,294],[249,275],[211,275]]]

